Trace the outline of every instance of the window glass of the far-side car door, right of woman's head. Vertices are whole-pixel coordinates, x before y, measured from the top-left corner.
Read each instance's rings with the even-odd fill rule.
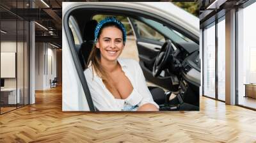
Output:
[[[158,33],[156,30],[152,29],[152,27],[147,26],[143,22],[140,22],[139,20],[132,19],[134,24],[136,25],[136,30],[138,33],[138,36],[142,38],[147,38],[150,40],[156,40],[156,41],[165,41],[164,36],[160,33]]]

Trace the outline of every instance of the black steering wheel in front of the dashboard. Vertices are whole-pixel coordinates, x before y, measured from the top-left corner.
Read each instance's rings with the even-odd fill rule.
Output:
[[[153,66],[154,77],[157,77],[162,72],[164,65],[168,61],[168,57],[172,54],[172,50],[172,41],[166,40],[156,56],[156,61]]]

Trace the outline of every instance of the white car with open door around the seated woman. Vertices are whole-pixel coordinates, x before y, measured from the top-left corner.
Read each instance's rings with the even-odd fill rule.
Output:
[[[63,111],[97,110],[83,73],[95,15],[127,17],[145,78],[159,86],[148,88],[160,110],[199,110],[197,17],[170,2],[67,2],[63,3],[62,22]],[[177,96],[169,100],[172,93]]]

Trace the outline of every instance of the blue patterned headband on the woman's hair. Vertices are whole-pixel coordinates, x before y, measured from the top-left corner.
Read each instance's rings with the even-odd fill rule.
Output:
[[[96,26],[95,31],[94,31],[94,43],[97,42],[97,37],[99,34],[99,31],[101,29],[101,27],[109,22],[115,22],[116,24],[118,24],[118,26],[122,29],[123,31],[123,38],[124,38],[124,43],[126,41],[126,30],[124,25],[122,24],[122,22],[118,21],[117,19],[115,19],[115,17],[106,17],[106,19],[103,19],[99,22],[99,24]]]

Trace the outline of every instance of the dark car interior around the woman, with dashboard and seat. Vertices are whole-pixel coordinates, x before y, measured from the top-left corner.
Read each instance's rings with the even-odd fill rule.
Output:
[[[87,59],[93,47],[94,30],[97,26],[97,20],[93,19],[93,16],[118,17],[120,13],[79,9],[72,11],[70,15],[72,19],[69,20],[72,22],[68,22],[68,29],[84,71],[87,68]],[[148,89],[159,105],[159,110],[199,110],[198,43],[148,17],[131,14],[121,16],[127,17],[136,37],[139,63],[145,78],[157,85],[148,86]],[[148,31],[154,31],[155,34]],[[167,90],[164,91],[163,88]],[[173,96],[171,100],[170,96]]]

